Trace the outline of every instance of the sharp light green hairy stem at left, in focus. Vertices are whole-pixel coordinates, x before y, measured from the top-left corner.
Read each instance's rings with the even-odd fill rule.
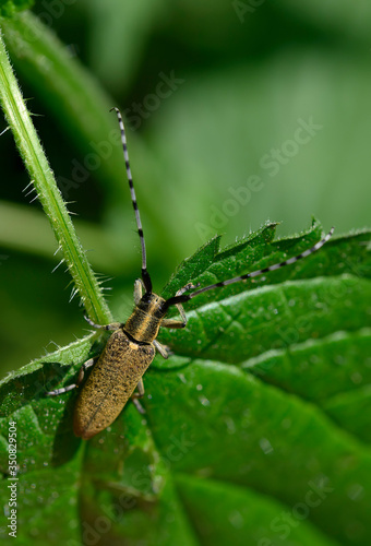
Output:
[[[57,187],[29,112],[23,100],[9,61],[0,29],[0,104],[15,143],[35,186],[38,200],[46,212],[63,252],[63,259],[75,283],[88,317],[100,324],[111,320],[99,284],[87,262],[75,234],[65,204]]]

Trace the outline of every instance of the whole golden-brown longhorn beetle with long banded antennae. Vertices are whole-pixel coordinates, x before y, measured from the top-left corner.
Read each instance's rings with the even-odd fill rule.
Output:
[[[182,304],[203,294],[228,284],[238,283],[244,278],[252,278],[268,271],[278,270],[306,258],[319,250],[333,235],[334,228],[312,248],[304,250],[301,254],[289,258],[280,263],[275,263],[268,268],[246,273],[244,275],[220,281],[210,286],[198,288],[192,283],[180,288],[175,296],[164,299],[152,290],[152,281],[147,271],[145,241],[142,229],[141,216],[136,204],[136,197],[129,164],[125,131],[120,110],[116,111],[123,147],[127,176],[129,180],[131,201],[133,204],[137,233],[142,247],[142,278],[134,284],[134,310],[127,322],[112,322],[107,325],[95,324],[89,319],[86,321],[94,328],[100,330],[112,330],[101,355],[98,359],[91,358],[80,369],[76,383],[47,392],[47,395],[57,395],[71,391],[79,387],[84,378],[87,368],[94,366],[86,383],[82,388],[74,410],[73,430],[74,434],[87,440],[100,430],[107,428],[121,413],[129,399],[133,402],[143,396],[144,387],[142,377],[155,357],[156,351],[164,357],[168,357],[167,347],[157,340],[158,330],[165,328],[184,328],[187,316]],[[198,289],[196,289],[198,288]],[[144,294],[143,294],[144,289]],[[193,290],[193,292],[190,292]],[[189,294],[187,294],[189,293]],[[166,313],[169,307],[176,306],[181,320],[167,319]],[[96,361],[97,360],[97,361]],[[137,388],[137,392],[134,392]]]

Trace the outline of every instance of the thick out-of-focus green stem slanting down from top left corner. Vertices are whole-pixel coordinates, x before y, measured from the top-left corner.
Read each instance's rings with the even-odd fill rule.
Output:
[[[115,102],[34,13],[25,11],[0,24],[19,76],[32,85],[81,157],[93,153],[98,163],[104,159],[98,168],[85,166],[83,159],[83,167],[94,170],[105,199],[122,212],[128,205],[122,147],[116,116],[109,114]],[[72,177],[70,190],[76,182],[82,183]]]

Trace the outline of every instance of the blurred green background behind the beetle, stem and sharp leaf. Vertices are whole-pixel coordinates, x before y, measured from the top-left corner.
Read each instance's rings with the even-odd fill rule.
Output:
[[[33,12],[107,95],[96,108],[113,133],[82,142],[58,95],[9,44],[77,233],[111,288],[116,319],[132,307],[140,247],[123,158],[113,162],[121,150],[111,106],[125,115],[158,292],[216,233],[231,242],[271,219],[285,236],[309,227],[312,215],[337,234],[370,224],[367,0],[55,0],[36,2]],[[10,131],[0,158],[3,376],[81,337],[86,325],[77,299],[69,302],[63,265],[52,273],[57,245],[37,200],[29,204],[34,194],[23,192],[29,180]]]

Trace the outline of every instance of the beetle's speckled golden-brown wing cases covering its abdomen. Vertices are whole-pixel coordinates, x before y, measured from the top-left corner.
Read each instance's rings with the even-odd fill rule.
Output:
[[[87,440],[113,423],[154,356],[153,345],[140,345],[116,330],[79,395],[74,434]]]

